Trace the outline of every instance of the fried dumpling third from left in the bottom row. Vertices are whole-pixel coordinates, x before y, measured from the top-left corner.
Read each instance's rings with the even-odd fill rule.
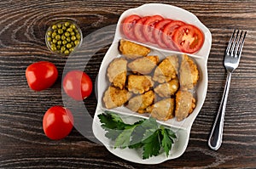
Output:
[[[159,121],[167,121],[174,117],[174,99],[163,99],[148,107],[147,111]]]

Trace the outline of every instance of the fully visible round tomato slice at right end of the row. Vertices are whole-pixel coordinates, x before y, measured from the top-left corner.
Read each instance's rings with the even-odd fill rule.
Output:
[[[184,53],[195,53],[204,43],[204,35],[195,25],[182,25],[173,35],[173,41]]]

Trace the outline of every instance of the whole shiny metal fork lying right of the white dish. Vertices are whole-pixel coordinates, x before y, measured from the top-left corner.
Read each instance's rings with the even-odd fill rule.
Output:
[[[244,39],[246,37],[247,31],[243,32],[234,30],[228,47],[225,50],[224,56],[224,67],[227,71],[227,79],[224,87],[224,94],[221,99],[218,114],[214,121],[212,132],[208,140],[208,145],[211,149],[217,150],[222,143],[223,127],[224,127],[224,113],[226,109],[228,94],[230,90],[230,80],[231,74],[239,65],[241,58],[241,50],[243,47]]]

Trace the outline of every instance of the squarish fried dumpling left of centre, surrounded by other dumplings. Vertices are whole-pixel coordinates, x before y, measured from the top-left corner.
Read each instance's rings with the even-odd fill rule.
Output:
[[[133,93],[145,93],[154,86],[151,76],[129,75],[128,90]]]

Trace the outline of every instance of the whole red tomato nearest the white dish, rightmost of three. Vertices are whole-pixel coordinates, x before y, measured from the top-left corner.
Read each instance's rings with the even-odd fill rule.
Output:
[[[90,76],[80,70],[69,71],[64,77],[63,89],[71,98],[82,101],[90,96],[92,91]]]

